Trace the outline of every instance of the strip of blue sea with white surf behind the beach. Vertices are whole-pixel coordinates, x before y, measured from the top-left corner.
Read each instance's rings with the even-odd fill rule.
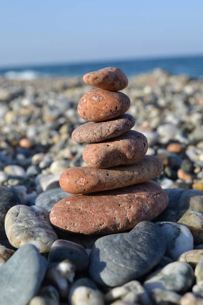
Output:
[[[127,76],[146,73],[156,68],[161,68],[171,74],[185,74],[194,78],[203,78],[203,55],[153,59],[106,60],[78,64],[27,65],[22,67],[0,68],[0,76],[10,79],[33,79],[47,76],[83,76],[87,72],[99,70],[104,67],[118,67]]]

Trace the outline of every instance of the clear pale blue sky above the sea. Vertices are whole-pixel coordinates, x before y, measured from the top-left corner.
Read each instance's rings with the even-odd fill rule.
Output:
[[[0,66],[203,53],[202,0],[7,0]]]

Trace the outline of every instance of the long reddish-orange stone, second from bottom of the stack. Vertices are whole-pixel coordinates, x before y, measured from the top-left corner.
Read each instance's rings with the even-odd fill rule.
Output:
[[[68,168],[61,173],[59,183],[61,189],[67,193],[85,194],[147,182],[159,175],[162,170],[163,164],[160,159],[144,156],[136,164],[108,169],[95,169],[89,166]],[[43,197],[42,194],[40,196]]]

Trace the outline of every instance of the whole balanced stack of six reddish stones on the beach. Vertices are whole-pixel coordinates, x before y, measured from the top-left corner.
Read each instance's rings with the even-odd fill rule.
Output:
[[[155,219],[166,208],[166,193],[151,180],[163,165],[146,155],[146,137],[131,130],[135,119],[125,114],[130,99],[118,92],[128,85],[124,72],[104,68],[83,80],[98,88],[79,101],[78,114],[88,123],[72,134],[74,141],[88,143],[83,151],[88,166],[62,172],[62,190],[74,195],[53,206],[50,220],[67,233],[118,233]]]

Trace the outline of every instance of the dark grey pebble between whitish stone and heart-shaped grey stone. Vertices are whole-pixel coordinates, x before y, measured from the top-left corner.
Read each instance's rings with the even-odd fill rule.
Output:
[[[76,266],[77,271],[84,271],[89,265],[89,257],[85,248],[75,242],[59,239],[51,246],[48,261],[59,262],[70,259]]]

